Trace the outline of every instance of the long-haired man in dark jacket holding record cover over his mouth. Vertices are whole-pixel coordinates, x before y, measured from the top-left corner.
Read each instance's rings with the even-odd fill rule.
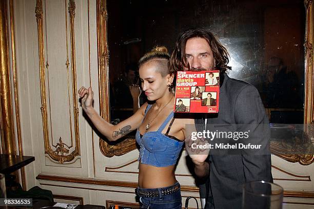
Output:
[[[241,208],[244,182],[272,181],[270,129],[265,109],[256,88],[244,81],[229,78],[225,73],[226,70],[231,70],[227,66],[228,57],[226,48],[211,32],[206,29],[190,29],[179,36],[170,60],[170,67],[177,71],[220,71],[219,113],[195,119],[199,132],[215,131],[217,127],[229,127],[232,133],[249,131],[249,141],[261,144],[263,148],[254,151],[238,149],[232,155],[213,154],[209,151],[208,161],[207,155],[192,155],[189,152],[195,174],[207,178],[205,208]],[[217,140],[215,139],[216,142]],[[191,140],[188,141],[189,145],[190,142]]]

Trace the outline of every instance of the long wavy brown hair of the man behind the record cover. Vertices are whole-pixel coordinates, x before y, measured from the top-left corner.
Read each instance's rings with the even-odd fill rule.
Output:
[[[221,73],[231,70],[231,67],[228,66],[230,56],[227,49],[205,28],[188,29],[179,35],[170,58],[169,68],[171,70],[182,71],[184,67],[190,69],[185,56],[185,45],[188,39],[194,37],[204,38],[207,41],[213,53],[216,69]]]

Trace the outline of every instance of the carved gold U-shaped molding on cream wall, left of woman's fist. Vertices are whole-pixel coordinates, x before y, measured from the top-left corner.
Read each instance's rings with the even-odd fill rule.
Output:
[[[66,26],[66,53],[67,53],[67,60],[66,60],[66,68],[68,72],[68,82],[69,82],[69,57],[68,57],[68,27],[67,27],[67,0],[65,0],[65,26]],[[48,155],[52,160],[56,161],[57,163],[66,163],[71,162],[75,159],[76,156],[81,155],[80,151],[80,134],[78,129],[78,101],[77,101],[77,82],[76,82],[76,61],[75,61],[75,30],[74,30],[74,18],[75,18],[75,2],[74,0],[69,1],[68,6],[69,18],[70,18],[70,47],[71,47],[71,77],[72,77],[72,100],[73,100],[73,119],[71,118],[71,110],[70,110],[70,93],[69,93],[69,85],[68,85],[68,96],[69,96],[69,115],[70,115],[70,137],[71,137],[71,145],[67,145],[62,141],[62,137],[60,136],[59,142],[54,142],[52,139],[49,139],[49,129],[48,129],[48,110],[50,107],[47,106],[47,98],[50,100],[50,93],[49,93],[49,81],[48,81],[48,89],[47,89],[47,81],[46,72],[49,70],[49,62],[48,62],[48,43],[47,43],[47,36],[49,34],[44,34],[44,16],[43,16],[43,1],[37,0],[36,8],[35,8],[35,16],[37,20],[37,31],[38,31],[38,53],[39,53],[39,66],[40,66],[40,85],[41,85],[41,101],[42,101],[42,120],[43,120],[43,133],[44,133],[44,144],[45,144],[45,154]],[[45,24],[47,25],[47,23]],[[47,49],[47,62],[45,66],[45,41],[44,36],[46,36],[46,49]],[[56,52],[58,53],[58,52]],[[45,68],[46,67],[46,68]],[[49,77],[48,77],[49,79]],[[48,93],[47,93],[48,92]],[[48,96],[48,97],[47,97]],[[50,102],[48,102],[50,105]],[[70,148],[73,146],[73,139],[72,139],[72,120],[74,120],[74,140],[75,146],[74,150],[70,151]],[[51,126],[52,121],[50,121]],[[52,129],[52,128],[51,128]],[[52,137],[52,135],[51,135]],[[63,137],[65,138],[65,137]]]

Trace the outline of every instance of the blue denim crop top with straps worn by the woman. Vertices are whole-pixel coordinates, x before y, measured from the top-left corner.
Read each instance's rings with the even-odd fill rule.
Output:
[[[147,106],[144,117],[151,106],[152,105]],[[138,129],[135,139],[140,145],[139,161],[141,163],[156,167],[166,167],[176,163],[183,147],[183,141],[172,139],[161,133],[171,118],[173,118],[173,112],[169,114],[157,131],[146,132],[142,137]]]

